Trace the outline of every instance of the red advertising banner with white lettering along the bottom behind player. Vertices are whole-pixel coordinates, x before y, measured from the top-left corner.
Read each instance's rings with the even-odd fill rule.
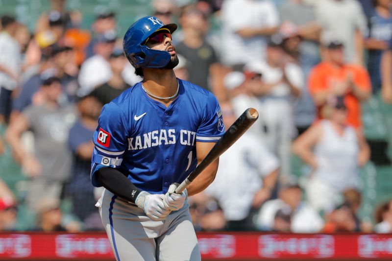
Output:
[[[205,260],[392,260],[392,235],[198,233]],[[0,260],[113,261],[105,233],[0,234]]]

